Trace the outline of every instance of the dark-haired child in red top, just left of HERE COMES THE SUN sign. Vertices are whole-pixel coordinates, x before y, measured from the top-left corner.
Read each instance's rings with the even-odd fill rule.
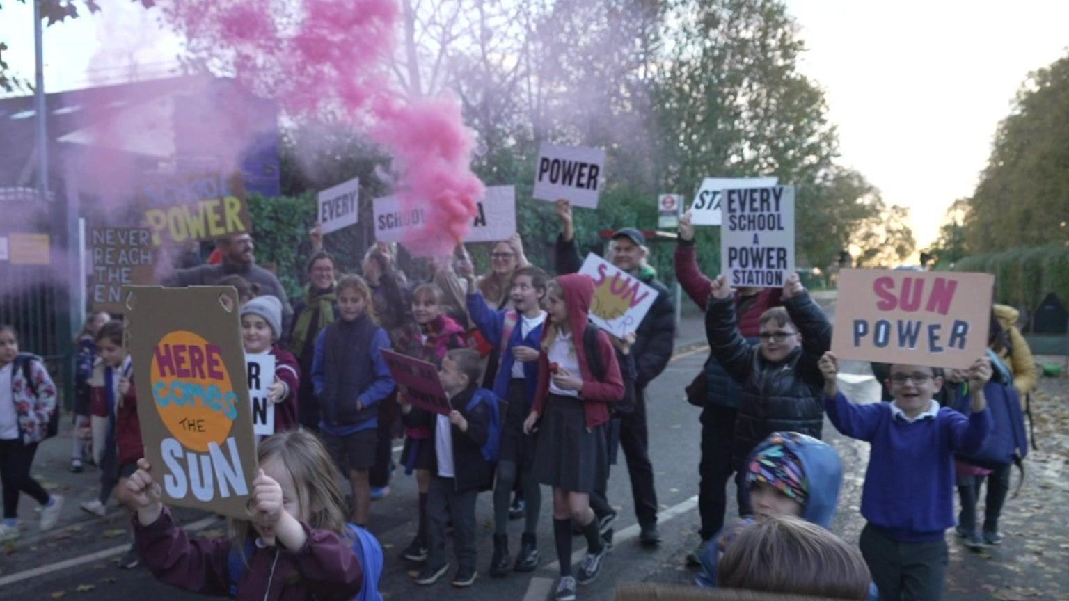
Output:
[[[117,500],[125,503],[126,478],[137,471],[137,460],[144,454],[144,446],[137,415],[133,366],[123,348],[122,322],[109,321],[100,327],[96,333],[96,350],[99,358],[93,367],[89,384],[93,452],[100,467],[100,491],[96,498],[82,503],[80,507],[82,511],[103,518],[108,512],[112,491],[115,491]],[[138,565],[133,536],[130,548],[119,565],[126,569]]]

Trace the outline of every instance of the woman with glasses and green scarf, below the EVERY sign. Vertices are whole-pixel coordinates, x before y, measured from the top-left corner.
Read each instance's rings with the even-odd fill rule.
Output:
[[[296,355],[300,373],[312,373],[315,338],[335,322],[337,264],[332,255],[320,250],[308,261],[308,283],[293,307],[293,327],[286,336],[290,351]],[[320,423],[320,402],[315,398],[312,379],[300,379],[297,388],[297,422],[315,431]]]

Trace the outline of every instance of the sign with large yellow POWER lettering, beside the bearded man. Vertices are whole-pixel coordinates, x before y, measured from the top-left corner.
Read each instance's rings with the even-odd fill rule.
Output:
[[[152,245],[215,240],[252,231],[242,174],[182,175],[141,188]]]

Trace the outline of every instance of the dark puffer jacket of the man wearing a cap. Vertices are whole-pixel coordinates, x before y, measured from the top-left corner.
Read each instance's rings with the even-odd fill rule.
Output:
[[[574,274],[583,266],[579,247],[575,238],[564,241],[557,236],[556,244],[557,274]],[[645,390],[654,377],[668,367],[672,346],[676,341],[676,309],[672,307],[668,289],[653,277],[640,277],[642,283],[657,291],[649,312],[642,318],[635,332],[635,343],[631,346],[631,355],[635,357],[635,387]]]

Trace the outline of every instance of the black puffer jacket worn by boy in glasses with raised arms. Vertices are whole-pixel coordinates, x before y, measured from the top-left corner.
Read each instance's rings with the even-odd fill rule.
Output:
[[[820,438],[824,380],[817,361],[831,348],[832,324],[806,293],[785,299],[784,307],[802,333],[802,346],[778,364],[766,360],[760,345],[748,344],[739,334],[730,298],[710,300],[706,313],[713,355],[742,385],[732,450],[740,469],[754,447],[773,432],[801,432]]]

